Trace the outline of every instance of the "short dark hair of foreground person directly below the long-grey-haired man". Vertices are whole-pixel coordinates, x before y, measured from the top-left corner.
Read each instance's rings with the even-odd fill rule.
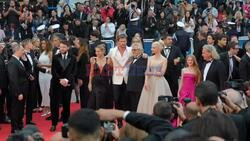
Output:
[[[218,102],[218,90],[216,85],[211,81],[204,81],[197,85],[195,96],[203,106],[216,105]]]

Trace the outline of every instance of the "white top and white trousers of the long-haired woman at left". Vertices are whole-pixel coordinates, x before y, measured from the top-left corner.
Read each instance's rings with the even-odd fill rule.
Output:
[[[42,65],[51,65],[49,55],[43,52],[39,57],[39,63]],[[41,106],[50,106],[50,80],[52,75],[49,73],[39,72],[39,85],[42,93],[42,104]]]

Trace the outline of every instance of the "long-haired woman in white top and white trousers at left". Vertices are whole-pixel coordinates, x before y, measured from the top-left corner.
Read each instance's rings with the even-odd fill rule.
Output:
[[[52,78],[51,75],[51,61],[52,61],[52,51],[51,45],[49,41],[42,40],[41,41],[41,49],[42,53],[39,57],[39,67],[45,68],[46,73],[39,72],[39,85],[42,93],[42,105],[44,107],[42,116],[46,116],[50,114],[50,80]]]

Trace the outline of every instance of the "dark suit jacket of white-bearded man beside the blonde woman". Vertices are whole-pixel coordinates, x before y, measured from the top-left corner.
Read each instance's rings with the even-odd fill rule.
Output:
[[[141,92],[145,71],[147,69],[147,59],[140,57],[135,63],[131,63],[128,72],[127,91]]]

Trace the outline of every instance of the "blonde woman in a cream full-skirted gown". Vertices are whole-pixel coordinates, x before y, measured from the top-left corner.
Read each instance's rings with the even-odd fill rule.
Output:
[[[139,113],[152,114],[159,96],[172,96],[168,82],[164,78],[167,59],[161,55],[162,49],[160,42],[153,42],[151,50],[154,55],[148,59],[145,83],[137,108]]]

